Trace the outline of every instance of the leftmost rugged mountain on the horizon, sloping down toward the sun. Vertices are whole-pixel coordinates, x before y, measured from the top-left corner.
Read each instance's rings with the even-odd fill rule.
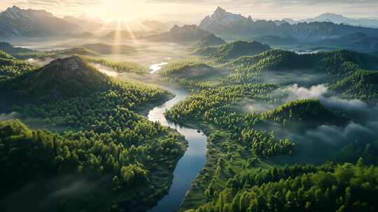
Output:
[[[51,36],[79,31],[77,24],[45,10],[22,10],[13,6],[0,13],[0,37]]]

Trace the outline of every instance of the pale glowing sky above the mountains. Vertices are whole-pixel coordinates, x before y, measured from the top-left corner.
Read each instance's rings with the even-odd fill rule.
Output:
[[[321,13],[378,19],[378,0],[0,0],[10,6],[44,9],[58,17],[83,13],[102,20],[159,20],[198,24],[218,6],[232,13],[265,20],[295,20]]]

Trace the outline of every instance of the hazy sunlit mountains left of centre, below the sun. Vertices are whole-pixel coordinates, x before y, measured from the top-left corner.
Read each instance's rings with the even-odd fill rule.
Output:
[[[99,18],[89,15],[78,17],[65,16],[55,17],[46,10],[24,10],[18,6],[7,8],[0,12],[0,38],[14,38],[18,36],[69,36],[73,38],[88,38],[93,33],[109,33],[106,36],[113,37],[112,32],[133,31],[147,33],[162,33],[169,31],[174,24],[179,22],[103,22]],[[92,33],[92,34],[90,34]],[[129,32],[125,32],[126,36]],[[150,33],[150,34],[151,34]],[[136,36],[139,36],[138,34]],[[130,37],[130,36],[129,36]]]

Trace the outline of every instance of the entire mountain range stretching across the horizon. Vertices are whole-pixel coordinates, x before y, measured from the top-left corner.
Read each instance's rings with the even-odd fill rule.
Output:
[[[377,21],[378,22],[378,21]],[[87,15],[79,17],[55,17],[45,10],[21,9],[17,6],[0,13],[0,38],[18,36],[70,36],[74,38],[93,37],[89,33],[106,29],[104,38],[132,38],[145,36],[153,40],[165,41],[199,41],[211,36],[212,33],[230,40],[247,39],[259,36],[278,36],[298,40],[323,40],[340,38],[354,33],[363,33],[369,38],[378,37],[378,26],[374,20],[353,20],[342,15],[325,13],[307,20],[254,20],[251,16],[229,13],[218,7],[212,15],[204,17],[200,25],[184,25],[178,27],[174,22],[162,23],[155,21],[141,22],[143,30],[134,30],[138,24],[130,25],[134,31],[120,29],[116,33],[116,25],[120,23],[104,23],[102,20],[90,18]],[[357,27],[363,26],[363,27]],[[108,28],[106,28],[108,27]],[[110,27],[110,28],[109,28]],[[140,26],[139,26],[140,27]],[[172,27],[172,29],[171,29]],[[142,27],[143,28],[143,27]],[[170,29],[170,30],[169,30]],[[148,36],[151,34],[155,36]]]

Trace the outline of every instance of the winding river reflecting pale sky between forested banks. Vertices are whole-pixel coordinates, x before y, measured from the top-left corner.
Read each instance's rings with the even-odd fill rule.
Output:
[[[153,74],[153,73],[152,73]],[[197,129],[180,126],[176,123],[169,122],[165,119],[166,109],[170,109],[176,103],[186,99],[189,96],[188,91],[174,86],[161,86],[162,89],[174,93],[175,98],[166,103],[151,109],[148,112],[148,120],[159,121],[162,126],[176,129],[181,135],[185,136],[188,141],[188,149],[183,157],[179,160],[174,169],[173,184],[169,188],[169,193],[163,197],[158,205],[151,209],[151,212],[173,212],[179,209],[186,192],[190,189],[190,182],[197,177],[206,162],[207,137]]]

